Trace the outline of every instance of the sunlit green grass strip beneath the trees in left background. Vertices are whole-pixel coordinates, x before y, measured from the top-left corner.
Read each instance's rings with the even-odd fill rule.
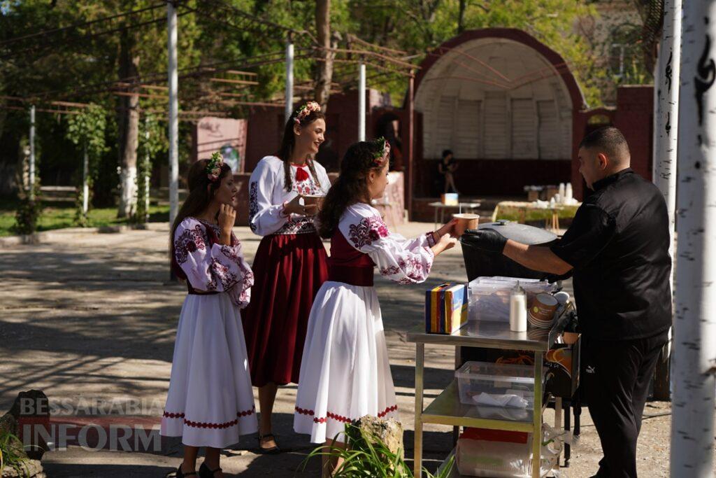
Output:
[[[15,224],[16,199],[3,199],[0,201],[0,237],[12,236],[12,226]],[[74,204],[45,203],[40,215],[37,231],[52,231],[65,227],[76,227],[74,224]],[[169,221],[168,205],[153,205],[149,208],[150,222]],[[117,208],[90,209],[87,221],[89,227],[116,226],[127,224],[127,219],[117,219]]]

